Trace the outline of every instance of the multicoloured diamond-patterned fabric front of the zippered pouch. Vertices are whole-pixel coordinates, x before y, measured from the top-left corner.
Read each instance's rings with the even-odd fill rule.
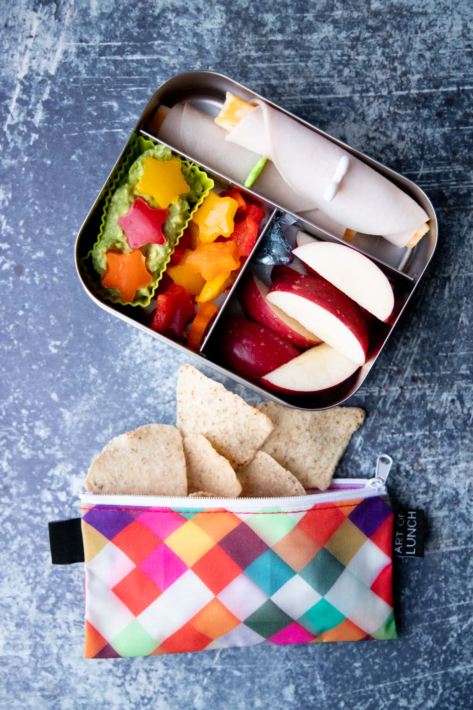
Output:
[[[84,656],[396,638],[388,501],[302,507],[83,507]]]

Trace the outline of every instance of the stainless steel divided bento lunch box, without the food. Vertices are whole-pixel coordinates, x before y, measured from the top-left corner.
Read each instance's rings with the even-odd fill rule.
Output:
[[[313,131],[320,133],[325,138],[328,138],[330,141],[333,141],[334,143],[338,144],[338,146],[345,148],[345,150],[352,153],[352,155],[355,155],[358,159],[367,163],[367,165],[374,168],[374,170],[377,170],[377,172],[381,173],[386,178],[391,180],[391,182],[394,182],[395,185],[401,187],[401,189],[404,190],[404,192],[408,193],[408,195],[411,195],[411,197],[413,197],[413,199],[416,200],[416,202],[418,202],[421,207],[423,207],[425,212],[427,212],[428,218],[430,220],[430,231],[428,231],[428,234],[425,234],[423,239],[421,239],[421,241],[419,241],[418,244],[413,247],[413,249],[398,249],[385,239],[382,239],[382,237],[377,236],[372,236],[369,239],[365,239],[363,236],[361,236],[360,239],[354,241],[351,244],[351,246],[357,249],[357,251],[365,253],[367,256],[369,256],[369,258],[371,258],[372,261],[377,263],[377,265],[382,269],[382,271],[384,271],[384,273],[389,278],[391,284],[394,287],[396,305],[394,315],[389,321],[389,324],[379,322],[375,327],[374,331],[372,332],[365,365],[363,365],[357,371],[357,373],[355,373],[354,376],[342,383],[342,385],[340,385],[335,391],[330,391],[329,393],[325,393],[325,395],[311,394],[304,396],[295,396],[274,393],[263,388],[259,384],[250,381],[236,374],[233,371],[230,371],[223,364],[219,351],[218,324],[219,322],[221,322],[221,318],[223,316],[228,315],[230,313],[232,315],[235,315],[239,312],[240,307],[238,305],[238,300],[235,296],[235,290],[238,289],[238,283],[240,282],[240,278],[242,277],[243,273],[245,273],[247,268],[250,268],[251,256],[245,262],[245,265],[238,274],[238,278],[235,280],[235,283],[233,283],[233,286],[230,288],[230,291],[226,296],[225,300],[223,301],[223,304],[221,305],[220,310],[218,311],[216,318],[213,321],[213,324],[211,325],[204,341],[201,344],[201,349],[199,352],[191,350],[184,344],[174,342],[172,338],[167,337],[165,334],[160,334],[150,329],[150,327],[148,327],[148,320],[146,318],[146,315],[143,312],[143,309],[141,309],[140,307],[112,304],[102,299],[91,288],[84,273],[82,259],[84,258],[84,256],[87,255],[87,253],[89,253],[92,246],[96,242],[97,235],[99,234],[106,191],[108,190],[108,187],[111,184],[113,175],[116,173],[118,163],[120,163],[123,155],[128,150],[128,147],[130,146],[130,143],[133,138],[136,135],[141,134],[145,138],[152,139],[157,143],[165,143],[165,141],[162,141],[160,138],[157,138],[152,132],[150,132],[151,129],[148,125],[151,117],[153,116],[153,114],[155,114],[155,111],[158,107],[160,107],[161,104],[165,104],[167,107],[172,107],[176,103],[185,101],[191,103],[191,105],[193,105],[194,107],[198,109],[203,109],[206,111],[206,113],[215,116],[221,109],[223,102],[225,101],[226,92],[228,91],[238,94],[247,102],[254,101],[255,99],[262,99],[270,106],[278,109],[279,111],[282,111],[288,116],[291,116],[296,121],[299,121],[301,124],[308,126],[308,128],[312,129]],[[238,190],[240,190],[240,192],[243,193],[243,195],[250,197],[253,202],[256,202],[265,210],[266,217],[260,224],[257,244],[265,238],[265,233],[267,229],[277,217],[285,217],[286,222],[288,222],[289,224],[293,224],[296,228],[303,229],[308,234],[315,236],[321,241],[331,241],[339,244],[346,244],[343,239],[340,239],[339,237],[334,236],[333,234],[330,234],[327,231],[324,231],[319,226],[311,224],[311,222],[307,222],[306,219],[303,219],[298,214],[288,212],[279,204],[271,202],[267,199],[263,199],[260,195],[257,194],[257,192],[245,188],[243,185],[238,184],[238,182],[235,182],[234,180],[230,180],[230,178],[228,178],[226,175],[217,173],[215,170],[212,170],[210,166],[205,165],[204,163],[201,163],[198,160],[194,160],[193,155],[187,155],[186,153],[182,153],[182,151],[177,150],[169,143],[165,143],[165,145],[169,146],[169,148],[172,148],[172,150],[177,153],[177,155],[182,156],[182,158],[192,160],[194,163],[199,165],[199,167],[202,168],[210,178],[213,178],[216,183],[216,186],[222,186],[224,189],[236,187]],[[293,229],[292,227],[288,229],[287,239],[289,243],[291,243],[291,239],[293,239],[293,237],[295,239],[295,233],[296,229]],[[293,237],[291,235],[293,235]],[[350,146],[347,146],[342,141],[338,141],[336,138],[328,136],[327,133],[319,131],[318,129],[316,129],[316,127],[311,126],[306,121],[302,121],[302,119],[299,119],[297,116],[290,114],[289,111],[285,111],[284,109],[276,106],[276,104],[268,102],[267,99],[260,97],[258,94],[255,94],[255,92],[252,92],[250,89],[247,89],[242,84],[238,84],[238,82],[235,82],[229,79],[228,77],[225,77],[221,74],[217,74],[215,72],[187,72],[185,74],[178,75],[177,77],[173,77],[169,81],[162,84],[162,86],[157,90],[157,92],[155,92],[155,94],[150,99],[148,106],[145,108],[145,111],[143,111],[143,114],[140,116],[138,124],[136,124],[135,126],[132,136],[130,136],[129,141],[123,148],[123,152],[118,157],[116,165],[113,167],[113,170],[111,171],[111,174],[107,179],[106,184],[102,188],[99,196],[97,197],[94,203],[94,206],[91,208],[89,214],[87,215],[87,218],[85,219],[84,224],[82,225],[79,231],[76,242],[75,258],[77,271],[79,273],[79,278],[82,281],[82,285],[84,285],[84,288],[87,291],[88,295],[91,297],[91,299],[94,300],[94,302],[96,302],[96,304],[104,310],[149,333],[151,337],[169,343],[169,345],[174,346],[183,353],[199,361],[200,364],[210,366],[216,371],[222,373],[223,375],[233,378],[233,380],[235,380],[236,382],[252,389],[253,391],[260,394],[262,397],[271,399],[274,402],[277,402],[282,405],[297,407],[299,409],[321,410],[343,403],[347,398],[353,395],[365,381],[365,378],[367,377],[369,371],[374,366],[374,362],[377,360],[380,352],[382,351],[384,344],[391,336],[391,332],[394,329],[396,322],[399,320],[401,313],[404,311],[408,300],[413,295],[416,286],[423,277],[425,269],[427,268],[428,263],[430,262],[430,259],[433,256],[433,252],[435,251],[437,238],[438,223],[435,217],[433,206],[430,203],[430,200],[428,200],[428,197],[425,195],[423,190],[421,190],[420,187],[411,182],[411,180],[404,178],[398,173],[395,173],[394,170],[391,170],[385,165],[382,165],[382,163],[378,163],[376,160],[369,158],[363,153],[360,153],[360,151],[356,151],[355,149],[350,148]],[[257,248],[257,244],[255,246],[255,249]],[[293,244],[291,244],[291,246],[294,246],[294,242]],[[271,270],[271,267],[258,268],[260,269],[260,273],[262,273],[261,269],[263,269],[263,271],[266,269],[268,275],[269,271]]]

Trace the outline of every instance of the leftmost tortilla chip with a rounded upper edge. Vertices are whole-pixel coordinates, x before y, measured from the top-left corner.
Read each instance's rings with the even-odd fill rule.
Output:
[[[93,493],[187,496],[186,460],[176,427],[148,424],[106,444],[89,469]]]

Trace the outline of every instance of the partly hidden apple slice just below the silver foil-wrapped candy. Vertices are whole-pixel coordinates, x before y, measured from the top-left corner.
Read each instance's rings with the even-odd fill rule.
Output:
[[[294,273],[297,275],[297,272]],[[321,342],[320,338],[294,318],[290,318],[277,306],[267,302],[265,299],[267,292],[267,285],[256,278],[255,274],[250,272],[245,276],[238,298],[248,318],[265,325],[301,350]]]

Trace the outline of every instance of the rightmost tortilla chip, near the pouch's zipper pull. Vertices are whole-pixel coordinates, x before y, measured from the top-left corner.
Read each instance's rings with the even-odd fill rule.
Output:
[[[303,412],[272,402],[258,409],[271,417],[274,431],[262,450],[289,469],[306,488],[328,488],[352,433],[365,420],[358,407]]]

